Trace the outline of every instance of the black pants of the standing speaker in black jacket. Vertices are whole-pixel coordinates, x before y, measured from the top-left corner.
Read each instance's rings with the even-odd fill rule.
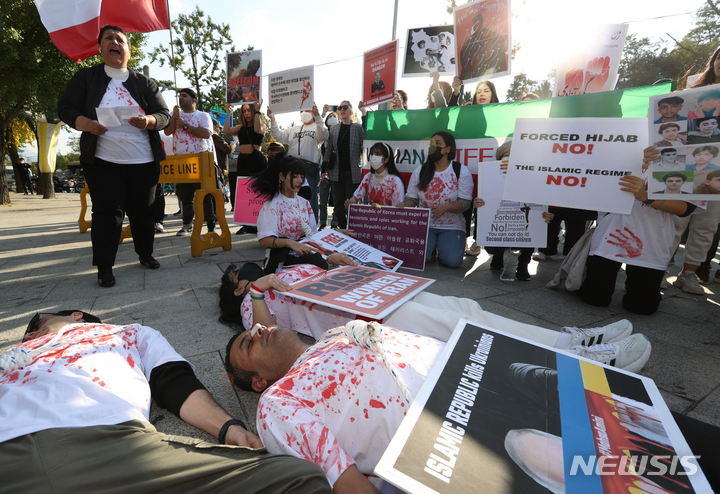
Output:
[[[153,252],[155,221],[153,205],[160,166],[155,163],[120,165],[95,158],[83,164],[90,187],[93,223],[90,232],[93,266],[113,266],[125,213],[130,220],[135,252],[148,256]]]

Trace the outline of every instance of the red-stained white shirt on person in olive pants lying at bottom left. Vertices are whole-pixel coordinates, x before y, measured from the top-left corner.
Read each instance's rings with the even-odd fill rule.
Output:
[[[152,328],[133,324],[110,336],[91,337],[105,324],[73,324],[60,344],[24,369],[0,378],[0,443],[46,429],[148,421],[150,373],[167,362],[185,362]],[[22,344],[34,349],[54,333]]]

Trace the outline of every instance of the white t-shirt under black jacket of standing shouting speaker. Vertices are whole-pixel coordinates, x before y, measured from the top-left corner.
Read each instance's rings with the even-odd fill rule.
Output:
[[[107,90],[100,101],[99,108],[116,108],[118,106],[137,106],[138,113],[144,115],[145,111],[140,107],[130,92],[125,89],[124,80],[110,79]],[[150,138],[147,130],[140,130],[136,134],[125,132],[107,131],[98,136],[95,156],[119,164],[142,164],[155,161],[150,147]]]

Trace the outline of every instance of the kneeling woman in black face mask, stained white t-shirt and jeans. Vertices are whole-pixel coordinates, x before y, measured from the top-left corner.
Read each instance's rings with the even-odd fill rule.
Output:
[[[455,138],[448,132],[436,132],[430,139],[428,158],[410,177],[405,200],[397,207],[430,208],[430,231],[425,259],[435,249],[440,262],[450,268],[462,264],[465,252],[463,211],[472,203],[473,180],[470,171],[455,157]]]

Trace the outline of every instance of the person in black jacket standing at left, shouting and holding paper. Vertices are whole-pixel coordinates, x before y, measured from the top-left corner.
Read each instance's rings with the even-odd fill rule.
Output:
[[[168,126],[170,113],[155,83],[128,69],[130,43],[122,29],[104,26],[98,44],[104,63],[75,73],[60,96],[58,112],[63,122],[82,131],[80,163],[93,211],[92,263],[100,286],[111,287],[126,212],[140,264],[160,267],[152,256],[153,204],[159,163],[165,159],[158,131]],[[118,115],[122,107],[136,115],[125,120],[132,126],[129,130],[98,121],[98,110]]]

